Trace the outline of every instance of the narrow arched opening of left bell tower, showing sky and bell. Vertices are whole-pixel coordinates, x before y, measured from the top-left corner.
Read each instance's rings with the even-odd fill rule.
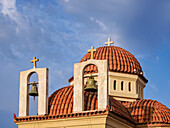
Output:
[[[38,96],[35,96],[36,91],[38,93],[38,74],[32,72],[28,75],[29,116],[38,114]]]

